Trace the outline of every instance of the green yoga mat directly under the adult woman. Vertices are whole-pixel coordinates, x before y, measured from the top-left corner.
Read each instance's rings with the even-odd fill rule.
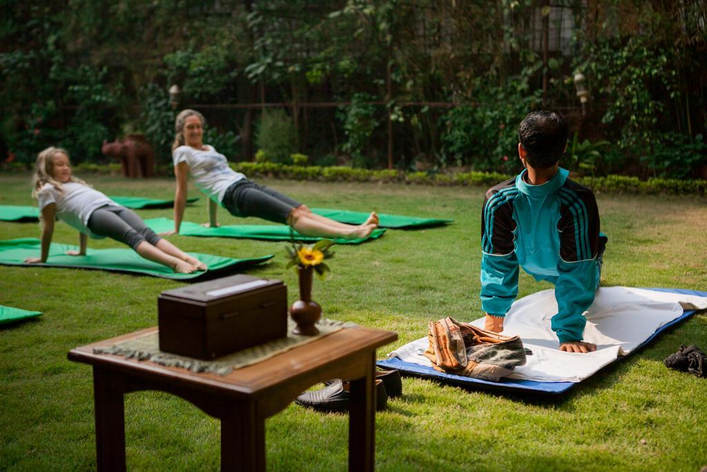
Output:
[[[168,218],[146,219],[145,224],[156,233],[163,233],[174,229],[174,220]],[[368,238],[342,239],[336,238],[337,244],[359,244],[365,241],[380,238],[385,233],[385,229],[374,229]],[[290,241],[290,227],[284,224],[234,224],[230,226],[219,226],[218,228],[205,228],[191,221],[182,221],[179,234],[182,236],[202,236],[220,238],[240,238],[240,239],[267,239],[270,241]],[[305,243],[320,241],[322,238],[312,238],[302,236],[295,231],[295,240]]]

